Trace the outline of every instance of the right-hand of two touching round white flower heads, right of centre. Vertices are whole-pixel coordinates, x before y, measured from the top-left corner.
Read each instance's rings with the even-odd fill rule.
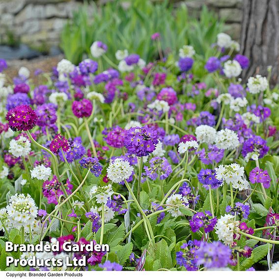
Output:
[[[235,149],[239,145],[238,136],[229,129],[218,131],[215,137],[215,144],[219,149]]]

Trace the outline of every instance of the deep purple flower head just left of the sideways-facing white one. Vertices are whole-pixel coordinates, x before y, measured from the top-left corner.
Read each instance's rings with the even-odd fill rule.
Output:
[[[209,219],[211,217],[212,214],[210,213],[210,211],[206,210],[205,214],[203,212],[197,212],[193,215],[192,219],[189,222],[191,230],[193,232],[197,232],[200,228],[203,227],[205,233],[213,231],[218,219],[216,217],[214,217],[213,219]]]

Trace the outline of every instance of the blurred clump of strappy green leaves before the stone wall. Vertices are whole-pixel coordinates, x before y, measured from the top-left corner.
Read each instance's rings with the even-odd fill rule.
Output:
[[[88,5],[93,5],[93,9],[88,9]],[[94,12],[88,14],[88,10]],[[222,31],[223,20],[205,6],[197,19],[188,13],[185,4],[173,8],[167,0],[131,0],[128,7],[121,0],[101,7],[92,1],[84,3],[64,26],[60,47],[75,64],[90,54],[90,46],[97,40],[108,45],[107,56],[112,60],[116,60],[117,50],[127,49],[151,61],[158,57],[158,50],[150,37],[159,32],[165,55],[177,54],[179,48],[189,44],[198,56],[208,58],[213,52],[211,45]]]

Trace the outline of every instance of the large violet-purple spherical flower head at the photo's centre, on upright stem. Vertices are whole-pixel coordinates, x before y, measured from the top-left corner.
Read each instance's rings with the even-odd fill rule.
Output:
[[[158,144],[158,133],[148,126],[132,127],[127,131],[124,145],[128,152],[138,157],[148,156]]]

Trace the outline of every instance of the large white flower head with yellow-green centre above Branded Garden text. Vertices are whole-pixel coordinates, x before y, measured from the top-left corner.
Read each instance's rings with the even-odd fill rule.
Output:
[[[22,226],[30,226],[37,217],[38,207],[34,199],[27,194],[15,194],[11,196],[6,206],[7,219],[10,227],[20,229]]]

